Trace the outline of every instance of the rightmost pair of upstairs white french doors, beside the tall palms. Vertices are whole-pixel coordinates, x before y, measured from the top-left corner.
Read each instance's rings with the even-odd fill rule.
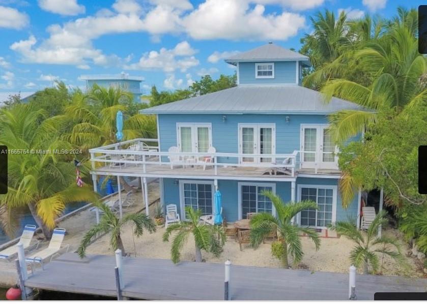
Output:
[[[337,169],[328,125],[301,125],[301,168]]]

